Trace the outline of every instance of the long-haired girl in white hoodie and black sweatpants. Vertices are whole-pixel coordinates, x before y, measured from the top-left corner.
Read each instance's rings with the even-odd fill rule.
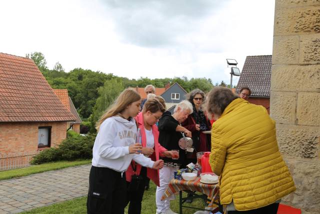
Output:
[[[160,169],[162,160],[152,161],[141,154],[136,143],[137,126],[133,119],[140,112],[140,95],[126,89],[100,118],[89,175],[87,213],[124,213],[125,170],[131,160],[142,166]]]

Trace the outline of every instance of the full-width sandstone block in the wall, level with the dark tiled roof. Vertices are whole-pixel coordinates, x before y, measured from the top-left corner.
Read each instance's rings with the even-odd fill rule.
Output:
[[[273,65],[271,90],[310,91],[320,89],[320,65]]]

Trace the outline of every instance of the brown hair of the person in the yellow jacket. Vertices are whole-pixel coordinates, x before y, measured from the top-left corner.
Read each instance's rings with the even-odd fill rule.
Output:
[[[239,98],[229,88],[214,87],[206,96],[204,108],[208,113],[221,116],[224,109],[236,98]]]

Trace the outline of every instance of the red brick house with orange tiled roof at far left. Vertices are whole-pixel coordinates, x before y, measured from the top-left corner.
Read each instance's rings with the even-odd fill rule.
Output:
[[[61,103],[31,59],[0,53],[0,169],[57,146],[76,118]],[[3,158],[6,157],[6,160]]]

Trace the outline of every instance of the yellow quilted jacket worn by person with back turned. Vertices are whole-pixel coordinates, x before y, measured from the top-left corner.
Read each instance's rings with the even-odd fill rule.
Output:
[[[233,100],[212,125],[210,166],[220,203],[236,210],[266,206],[295,190],[278,149],[275,123],[262,106]]]

